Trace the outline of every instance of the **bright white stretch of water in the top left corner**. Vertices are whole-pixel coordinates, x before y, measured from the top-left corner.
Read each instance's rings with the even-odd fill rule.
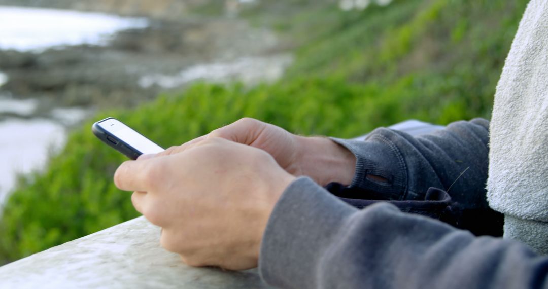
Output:
[[[147,26],[142,18],[0,6],[0,49],[39,52],[64,45],[105,45],[119,30]]]

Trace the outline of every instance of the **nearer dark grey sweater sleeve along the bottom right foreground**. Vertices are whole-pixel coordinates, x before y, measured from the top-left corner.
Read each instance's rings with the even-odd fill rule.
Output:
[[[281,288],[548,288],[548,258],[390,204],[357,210],[309,178],[286,189],[261,244]]]

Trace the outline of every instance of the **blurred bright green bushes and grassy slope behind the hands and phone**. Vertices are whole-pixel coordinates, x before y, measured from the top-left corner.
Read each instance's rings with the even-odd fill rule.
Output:
[[[527,2],[396,0],[343,12],[332,2],[263,1],[244,15],[293,39],[296,61],[283,79],[251,88],[196,84],[96,119],[115,116],[168,147],[244,116],[338,137],[409,118],[488,118]],[[96,140],[90,125],[71,134],[47,171],[21,180],[0,222],[0,262],[138,216],[129,193],[112,183],[124,157]]]

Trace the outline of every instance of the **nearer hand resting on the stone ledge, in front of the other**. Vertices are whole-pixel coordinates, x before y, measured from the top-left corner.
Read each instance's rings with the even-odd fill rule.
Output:
[[[116,186],[162,227],[161,244],[193,266],[256,267],[266,223],[294,180],[268,153],[218,137],[126,161]]]

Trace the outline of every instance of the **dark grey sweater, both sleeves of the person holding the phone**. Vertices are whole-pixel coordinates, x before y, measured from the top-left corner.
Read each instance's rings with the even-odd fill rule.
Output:
[[[439,187],[461,207],[485,209],[488,125],[458,122],[422,137],[378,129],[365,141],[338,142],[357,157],[358,192],[424,200]],[[283,288],[548,288],[548,258],[527,246],[390,204],[358,210],[305,177],[272,212],[259,269]]]

